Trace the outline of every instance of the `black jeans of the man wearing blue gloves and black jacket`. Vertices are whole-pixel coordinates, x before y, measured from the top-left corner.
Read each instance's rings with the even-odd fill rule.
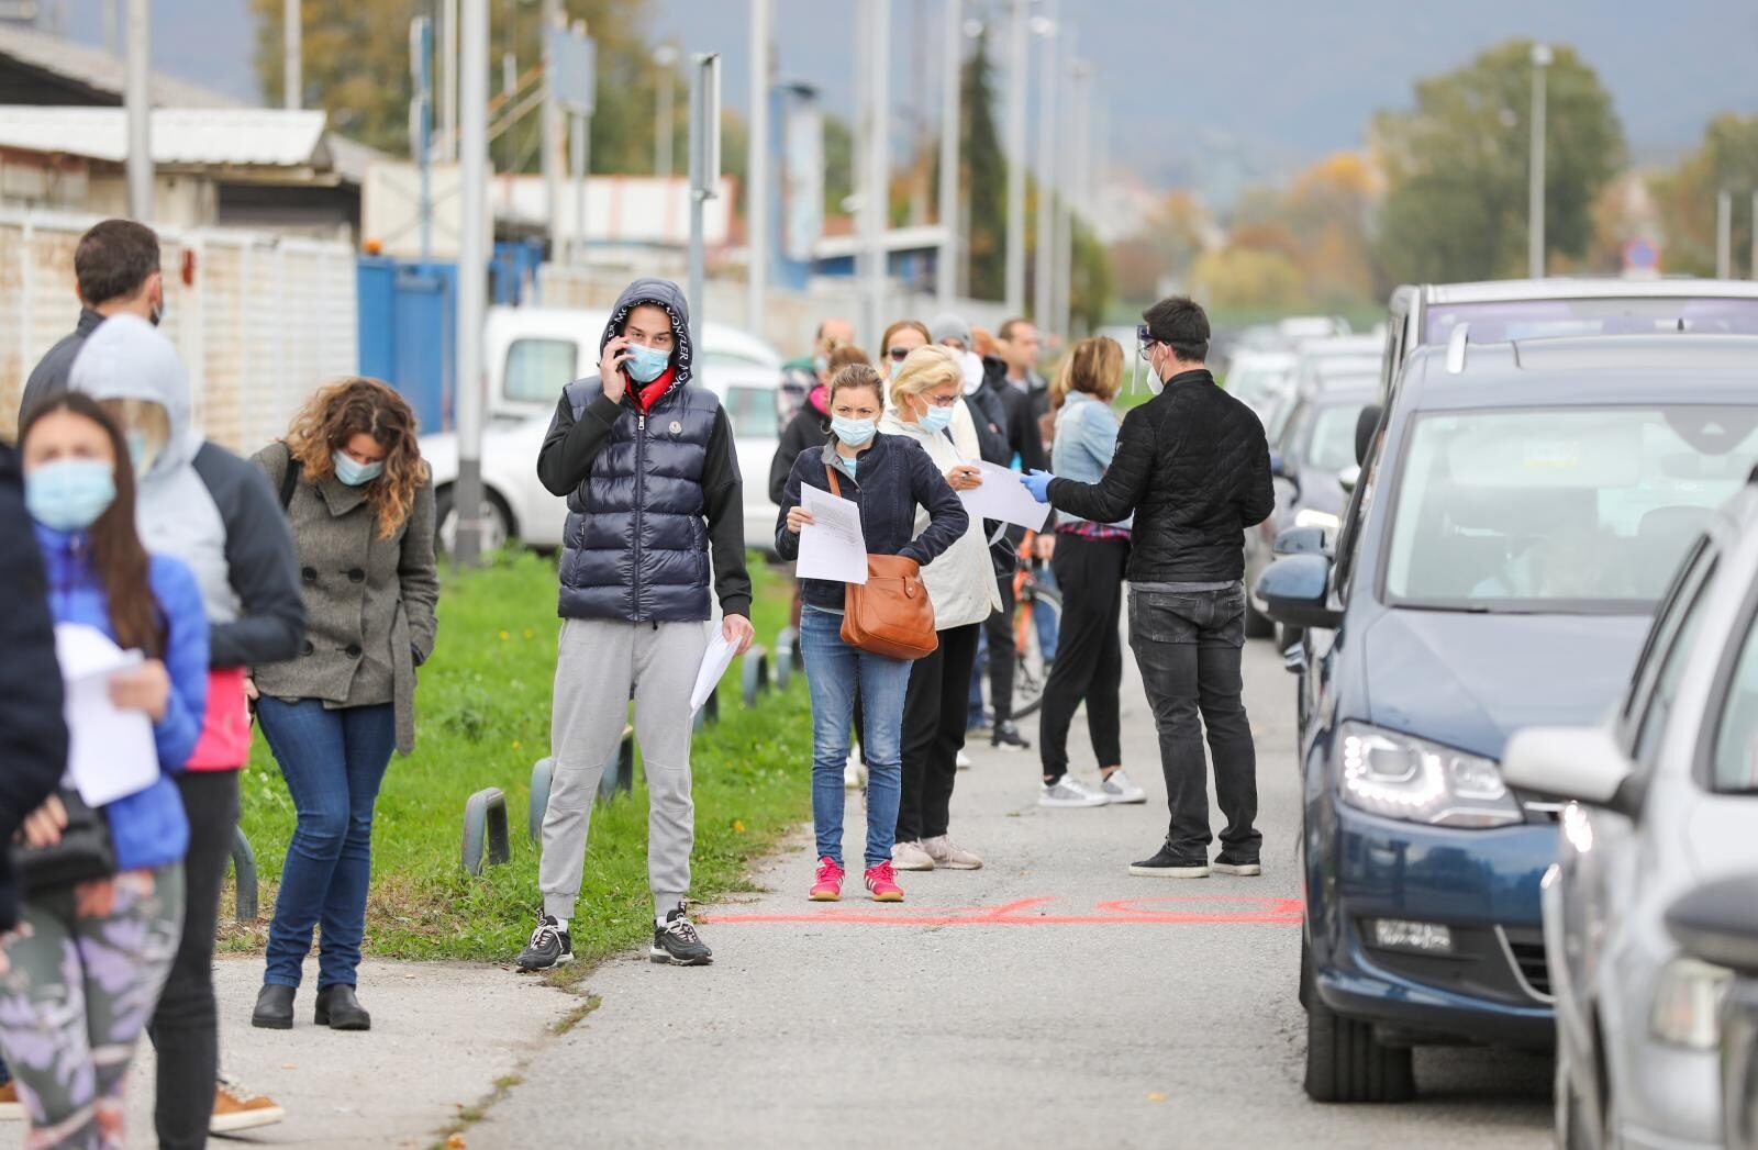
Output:
[[[1222,851],[1257,862],[1257,751],[1245,717],[1239,652],[1245,647],[1245,587],[1157,593],[1130,587],[1129,645],[1141,666],[1160,731],[1160,768],[1173,821],[1166,841],[1188,858],[1208,858],[1208,777],[1202,731],[1215,760],[1215,797],[1227,828]],[[1201,716],[1201,721],[1199,721]]]

